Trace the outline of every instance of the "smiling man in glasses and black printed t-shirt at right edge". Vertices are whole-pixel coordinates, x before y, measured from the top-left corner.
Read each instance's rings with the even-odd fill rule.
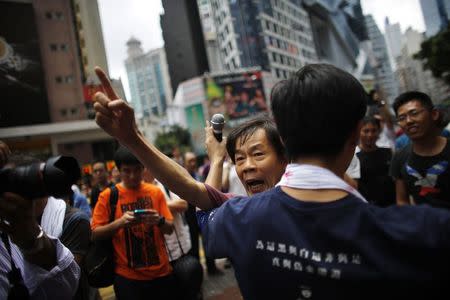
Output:
[[[411,139],[392,159],[397,204],[450,209],[450,143],[440,135],[442,115],[427,94],[415,91],[398,96],[393,107],[398,125]]]

